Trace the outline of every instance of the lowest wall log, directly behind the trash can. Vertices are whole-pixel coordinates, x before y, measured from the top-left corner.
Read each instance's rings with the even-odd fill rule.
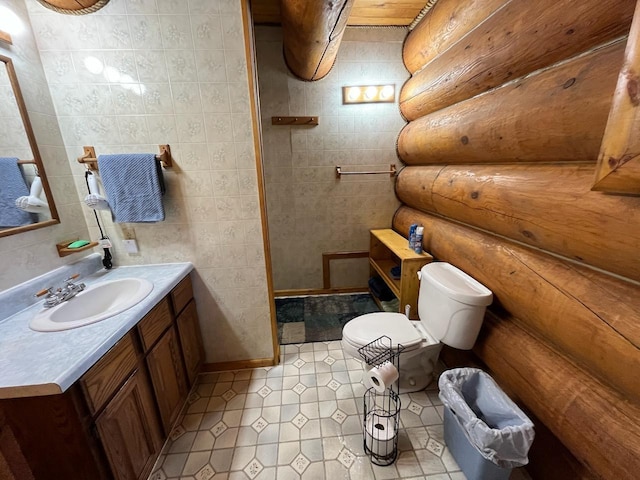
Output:
[[[508,317],[485,317],[474,352],[599,477],[637,478],[637,402],[603,385]]]

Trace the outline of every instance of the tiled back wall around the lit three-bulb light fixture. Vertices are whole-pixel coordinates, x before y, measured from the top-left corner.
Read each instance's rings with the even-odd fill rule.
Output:
[[[403,28],[347,28],[336,63],[322,80],[287,69],[279,27],[256,28],[260,108],[273,277],[276,290],[322,288],[322,253],[368,250],[369,230],[391,225],[399,203],[388,170],[405,122],[397,96],[408,78]],[[342,86],[396,86],[396,102],[342,105]],[[273,126],[272,116],[313,115],[319,125]],[[331,286],[366,286],[366,259],[331,262]]]

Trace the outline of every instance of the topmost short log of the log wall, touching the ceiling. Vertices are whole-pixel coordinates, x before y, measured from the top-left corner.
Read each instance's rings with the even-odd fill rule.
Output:
[[[510,0],[439,0],[407,36],[402,49],[412,74]]]

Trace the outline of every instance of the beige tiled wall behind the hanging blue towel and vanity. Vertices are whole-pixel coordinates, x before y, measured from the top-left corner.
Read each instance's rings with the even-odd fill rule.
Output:
[[[171,145],[164,222],[120,225],[101,214],[115,264],[193,262],[207,361],[271,358],[241,2],[111,0],[85,16],[27,5],[76,203],[86,193],[83,145],[98,154]],[[137,255],[122,248],[131,234]]]

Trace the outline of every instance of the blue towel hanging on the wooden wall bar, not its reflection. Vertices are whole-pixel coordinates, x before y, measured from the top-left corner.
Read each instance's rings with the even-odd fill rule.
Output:
[[[162,170],[154,154],[100,155],[98,169],[116,223],[164,220]]]

